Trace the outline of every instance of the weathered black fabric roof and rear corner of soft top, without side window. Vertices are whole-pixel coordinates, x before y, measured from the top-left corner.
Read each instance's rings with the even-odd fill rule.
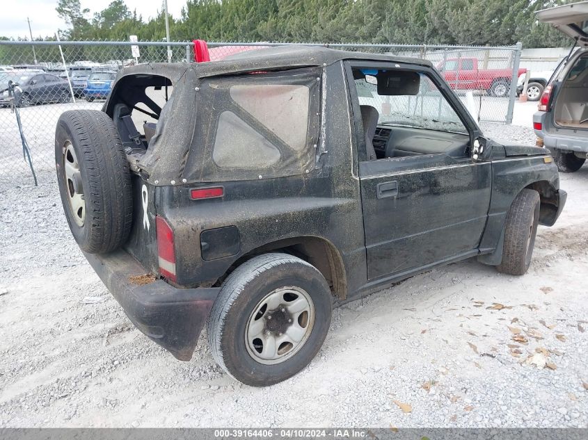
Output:
[[[184,165],[196,133],[198,86],[214,76],[272,72],[301,67],[326,67],[341,60],[381,60],[392,63],[430,67],[428,60],[383,54],[342,51],[326,47],[279,46],[246,51],[209,63],[146,63],[125,67],[116,78],[113,92],[103,110],[112,117],[117,104],[117,89],[149,81],[150,76],[164,76],[173,85],[173,94],[164,106],[156,133],[138,168],[145,171],[151,184],[168,185],[184,177]],[[121,92],[122,93],[122,92]],[[212,129],[213,127],[208,127]]]

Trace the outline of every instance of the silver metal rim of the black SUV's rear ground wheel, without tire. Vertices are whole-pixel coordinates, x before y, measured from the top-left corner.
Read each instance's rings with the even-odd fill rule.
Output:
[[[260,364],[280,364],[301,350],[314,323],[315,304],[304,289],[278,288],[258,302],[248,318],[247,352]]]

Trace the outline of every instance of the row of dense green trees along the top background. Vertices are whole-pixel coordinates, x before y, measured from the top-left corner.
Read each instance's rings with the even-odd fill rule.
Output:
[[[170,17],[176,41],[365,42],[556,47],[571,43],[534,13],[570,0],[186,0]],[[163,8],[162,8],[163,9]],[[80,0],[58,0],[67,40],[164,40],[161,11],[147,22],[113,0],[88,19]]]

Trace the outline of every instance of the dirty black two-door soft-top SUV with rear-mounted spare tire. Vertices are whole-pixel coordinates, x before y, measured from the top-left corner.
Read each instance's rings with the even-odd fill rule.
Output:
[[[484,138],[427,60],[311,47],[125,68],[56,129],[72,234],[130,320],[264,386],[331,307],[477,256],[523,275],[566,193],[539,147]]]

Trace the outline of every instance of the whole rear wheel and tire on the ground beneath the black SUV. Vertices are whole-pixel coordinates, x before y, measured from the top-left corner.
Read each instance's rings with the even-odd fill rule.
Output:
[[[216,363],[251,386],[282,382],[305,368],[331,323],[331,290],[314,266],[263,254],[233,271],[208,320]]]

